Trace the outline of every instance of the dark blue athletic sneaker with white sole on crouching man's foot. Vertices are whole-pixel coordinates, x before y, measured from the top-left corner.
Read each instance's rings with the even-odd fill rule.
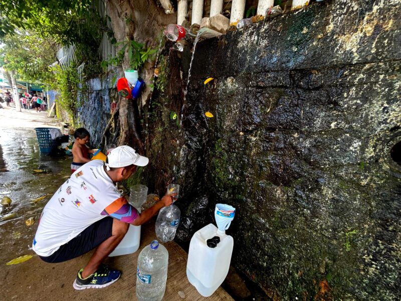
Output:
[[[109,269],[107,266],[101,265],[96,272],[83,279],[81,277],[83,270],[83,268],[79,270],[77,278],[72,284],[75,289],[103,288],[117,281],[121,275],[119,270]]]

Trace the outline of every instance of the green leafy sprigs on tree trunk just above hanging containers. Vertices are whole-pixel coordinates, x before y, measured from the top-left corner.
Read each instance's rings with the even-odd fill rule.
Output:
[[[144,48],[144,44],[135,42],[134,40],[119,42],[116,43],[116,46],[121,46],[121,49],[114,58],[110,56],[107,60],[102,61],[101,66],[104,70],[107,69],[108,65],[120,66],[124,60],[126,51],[128,52],[129,68],[139,70],[148,59],[153,58],[157,51],[150,47],[146,49]]]

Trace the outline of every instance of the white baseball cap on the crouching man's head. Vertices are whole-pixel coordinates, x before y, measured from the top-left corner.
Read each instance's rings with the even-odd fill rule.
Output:
[[[131,164],[136,166],[146,166],[149,163],[149,159],[140,156],[135,152],[135,149],[128,145],[122,145],[114,148],[106,159],[106,169],[109,171],[110,168],[126,167]]]

